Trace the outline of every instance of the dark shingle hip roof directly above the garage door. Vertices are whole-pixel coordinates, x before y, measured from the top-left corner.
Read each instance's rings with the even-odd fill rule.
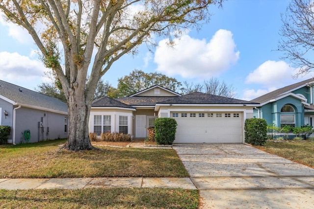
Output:
[[[208,93],[189,93],[172,99],[158,102],[159,104],[259,104],[256,102],[217,96]]]

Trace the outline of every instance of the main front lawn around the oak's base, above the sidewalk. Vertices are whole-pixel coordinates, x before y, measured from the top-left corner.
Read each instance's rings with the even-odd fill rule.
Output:
[[[58,151],[62,143],[0,145],[0,178],[188,177],[172,149]]]

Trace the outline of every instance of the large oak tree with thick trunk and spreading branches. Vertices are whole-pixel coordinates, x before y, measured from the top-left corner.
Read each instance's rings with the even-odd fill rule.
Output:
[[[7,21],[28,31],[59,79],[69,113],[68,150],[93,149],[88,120],[98,81],[156,35],[199,26],[222,0],[0,0]],[[154,36],[153,36],[154,35]],[[170,39],[171,40],[171,39]],[[90,77],[85,88],[85,80]]]

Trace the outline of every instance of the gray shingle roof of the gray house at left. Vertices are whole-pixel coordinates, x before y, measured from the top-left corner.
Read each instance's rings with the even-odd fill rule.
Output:
[[[0,95],[16,102],[18,105],[29,105],[55,111],[68,112],[67,104],[42,93],[0,80]]]

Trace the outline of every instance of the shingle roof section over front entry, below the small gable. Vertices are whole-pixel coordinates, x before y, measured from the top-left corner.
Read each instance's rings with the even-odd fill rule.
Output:
[[[156,103],[176,97],[178,96],[127,96],[117,100],[132,106],[155,106]]]

